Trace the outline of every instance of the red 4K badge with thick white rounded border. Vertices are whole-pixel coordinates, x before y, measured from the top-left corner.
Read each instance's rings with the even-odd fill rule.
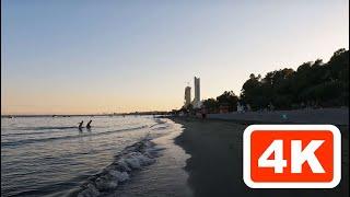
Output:
[[[332,188],[340,182],[341,136],[332,125],[252,125],[243,146],[243,178],[252,188]]]

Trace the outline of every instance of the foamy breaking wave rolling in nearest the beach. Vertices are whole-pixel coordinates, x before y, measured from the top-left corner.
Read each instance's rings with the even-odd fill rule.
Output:
[[[97,197],[112,193],[118,185],[130,179],[132,171],[154,163],[160,150],[149,137],[145,137],[117,154],[110,165],[89,178],[72,196]]]

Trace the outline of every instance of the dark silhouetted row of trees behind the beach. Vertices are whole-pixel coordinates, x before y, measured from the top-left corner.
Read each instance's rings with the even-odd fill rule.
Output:
[[[268,72],[264,78],[252,73],[240,96],[225,91],[217,99],[203,100],[202,104],[208,113],[218,113],[221,106],[236,111],[237,102],[249,105],[252,111],[271,106],[275,109],[349,106],[349,50],[338,49],[326,63],[317,59],[302,63],[296,70]]]

